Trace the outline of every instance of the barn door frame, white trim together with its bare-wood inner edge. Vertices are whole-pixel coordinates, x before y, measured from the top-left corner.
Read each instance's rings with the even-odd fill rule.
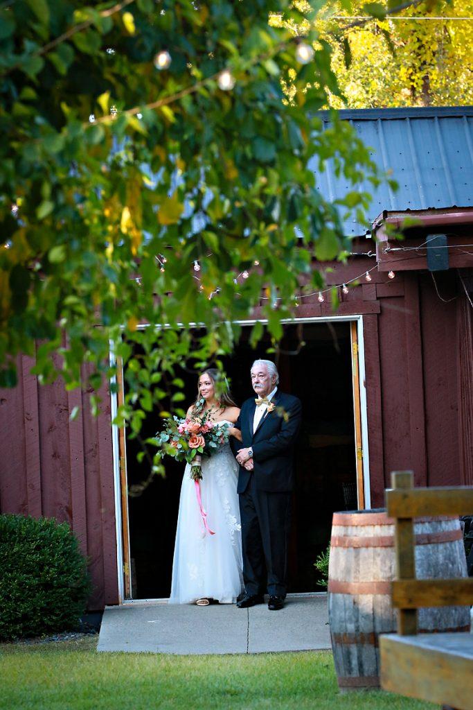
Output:
[[[252,326],[260,320],[237,321],[242,326]],[[352,387],[353,387],[353,415],[355,420],[355,459],[357,471],[357,501],[358,508],[371,506],[370,481],[369,481],[369,449],[368,449],[368,417],[365,375],[365,341],[363,338],[363,316],[313,316],[282,320],[282,324],[318,324],[323,322],[349,322],[352,353]],[[140,329],[148,325],[138,326]],[[110,344],[110,363],[116,364],[113,356],[113,342]],[[113,378],[116,391],[111,392],[111,419],[116,417],[118,406],[123,402],[123,371],[121,362],[118,361],[118,376]],[[112,388],[113,389],[113,388]],[[128,495],[126,471],[126,430],[112,424],[113,448],[113,482],[115,490],[115,519],[116,519],[116,547],[118,569],[118,595],[121,604],[145,603],[148,601],[167,601],[165,599],[132,599],[131,598],[131,569],[130,569],[130,530],[128,525]]]

